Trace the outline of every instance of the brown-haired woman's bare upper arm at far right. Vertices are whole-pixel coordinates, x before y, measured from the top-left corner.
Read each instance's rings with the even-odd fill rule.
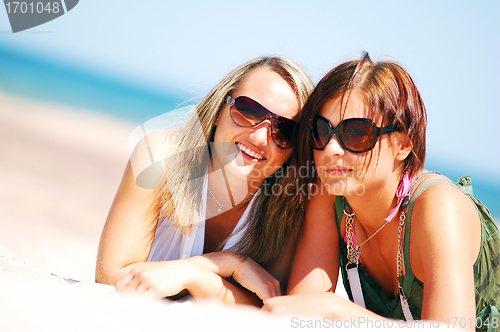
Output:
[[[475,321],[481,224],[470,199],[448,184],[430,187],[415,203],[411,237],[412,268],[425,285],[422,319]]]

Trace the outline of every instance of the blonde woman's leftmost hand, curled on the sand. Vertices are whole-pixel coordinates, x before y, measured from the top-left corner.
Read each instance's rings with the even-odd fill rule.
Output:
[[[188,288],[196,273],[196,267],[186,260],[147,262],[120,277],[115,290],[122,294],[160,299]]]

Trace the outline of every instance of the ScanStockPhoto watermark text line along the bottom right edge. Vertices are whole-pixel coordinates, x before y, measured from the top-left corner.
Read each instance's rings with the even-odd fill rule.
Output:
[[[294,329],[433,329],[433,328],[453,328],[453,329],[489,329],[495,330],[499,327],[497,317],[490,319],[486,317],[465,318],[448,317],[446,319],[434,320],[395,320],[395,319],[371,319],[369,317],[354,317],[350,319],[334,319],[324,317],[322,319],[302,319],[292,317],[290,327]]]

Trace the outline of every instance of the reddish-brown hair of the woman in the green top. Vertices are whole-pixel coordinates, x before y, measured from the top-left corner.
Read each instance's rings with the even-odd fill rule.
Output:
[[[344,98],[351,93],[362,98],[369,109],[368,117],[381,117],[385,125],[395,125],[408,136],[413,149],[403,162],[401,177],[410,177],[425,161],[425,106],[410,75],[393,61],[372,62],[368,53],[361,60],[349,61],[333,68],[318,83],[301,113],[302,121],[296,136],[296,158],[300,165],[314,160],[311,147],[311,128],[314,117],[330,99]],[[341,114],[342,116],[342,114]],[[302,144],[300,144],[301,142]],[[314,173],[302,183],[313,181]]]

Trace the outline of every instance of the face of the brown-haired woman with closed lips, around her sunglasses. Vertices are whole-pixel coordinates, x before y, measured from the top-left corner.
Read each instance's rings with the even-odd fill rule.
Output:
[[[320,112],[333,127],[341,120],[369,118],[368,108],[355,93],[350,95],[347,106],[344,105],[343,115],[341,101],[341,97],[328,100]],[[375,118],[374,122],[378,127],[383,124],[380,118]],[[399,133],[382,135],[372,150],[353,153],[342,148],[337,136],[333,135],[324,150],[314,150],[316,169],[328,192],[342,196],[360,195],[380,188],[394,175],[399,176],[398,136]]]

